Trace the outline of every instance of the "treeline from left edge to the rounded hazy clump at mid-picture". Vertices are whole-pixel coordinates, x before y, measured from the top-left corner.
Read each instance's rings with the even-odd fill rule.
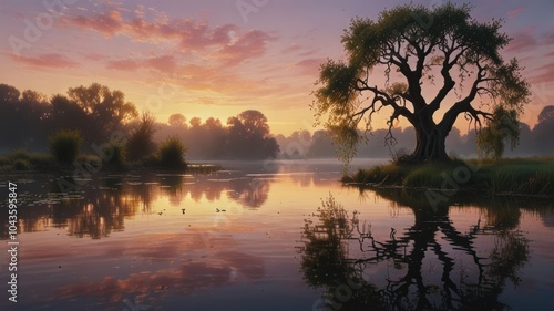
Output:
[[[187,158],[265,159],[277,156],[279,146],[270,134],[266,116],[255,110],[227,120],[193,117],[182,114],[158,123],[147,112],[141,116],[134,104],[125,102],[121,91],[93,83],[70,87],[66,95],[48,97],[39,92],[0,84],[0,152],[17,148],[45,152],[48,137],[61,129],[78,131],[83,138],[82,152],[98,152],[114,134],[126,142],[126,156],[138,160],[156,151],[168,137],[181,139]],[[96,146],[96,149],[95,149]]]

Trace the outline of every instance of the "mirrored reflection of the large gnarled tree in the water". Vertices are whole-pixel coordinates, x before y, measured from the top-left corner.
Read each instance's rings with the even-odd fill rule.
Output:
[[[373,237],[359,214],[349,217],[332,197],[307,219],[302,232],[301,270],[308,284],[325,288],[318,310],[503,310],[499,301],[506,281],[519,283],[529,259],[529,241],[501,224],[480,220],[468,232],[449,218],[449,207],[423,208],[423,198],[379,193],[413,211],[414,222],[389,239]],[[410,205],[408,203],[411,203]],[[502,209],[500,209],[502,211]],[[423,265],[425,263],[425,265]],[[393,270],[387,267],[393,267]],[[428,266],[440,269],[430,272]],[[429,268],[430,269],[430,268]]]

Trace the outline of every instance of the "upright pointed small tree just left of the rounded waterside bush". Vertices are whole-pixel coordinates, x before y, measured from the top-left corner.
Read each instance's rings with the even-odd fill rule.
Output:
[[[140,122],[131,129],[126,145],[127,158],[138,160],[152,155],[156,149],[153,142],[155,132],[154,116],[151,113],[143,113]]]

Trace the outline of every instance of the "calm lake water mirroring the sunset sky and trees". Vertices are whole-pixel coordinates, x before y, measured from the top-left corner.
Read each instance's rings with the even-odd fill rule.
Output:
[[[554,310],[551,203],[429,208],[342,187],[337,163],[224,165],[98,174],[72,194],[19,176],[18,302],[2,251],[0,309]]]

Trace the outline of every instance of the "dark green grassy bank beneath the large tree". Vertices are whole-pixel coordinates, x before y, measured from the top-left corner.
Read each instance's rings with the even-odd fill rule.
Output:
[[[468,189],[492,195],[554,196],[554,157],[390,163],[342,177],[362,187]]]

